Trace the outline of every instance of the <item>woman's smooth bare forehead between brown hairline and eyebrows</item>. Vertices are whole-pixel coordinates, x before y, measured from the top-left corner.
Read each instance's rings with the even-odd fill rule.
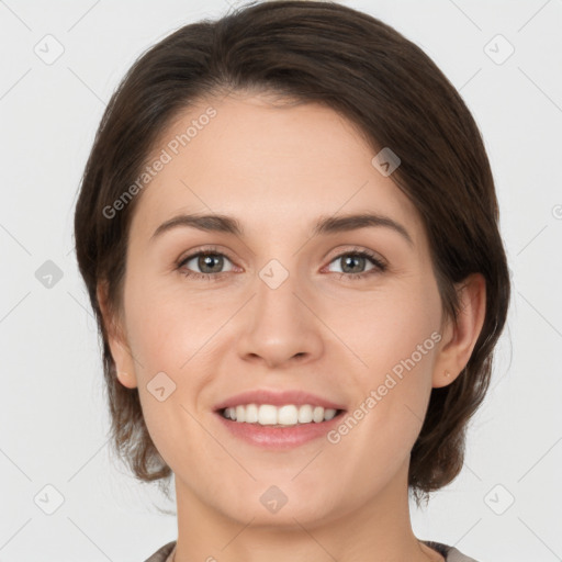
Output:
[[[351,122],[317,103],[260,94],[199,102],[173,120],[147,159],[166,164],[143,190],[132,229],[148,239],[164,221],[193,212],[231,214],[259,234],[372,211],[407,224],[416,239],[418,213],[373,167],[374,156]]]

